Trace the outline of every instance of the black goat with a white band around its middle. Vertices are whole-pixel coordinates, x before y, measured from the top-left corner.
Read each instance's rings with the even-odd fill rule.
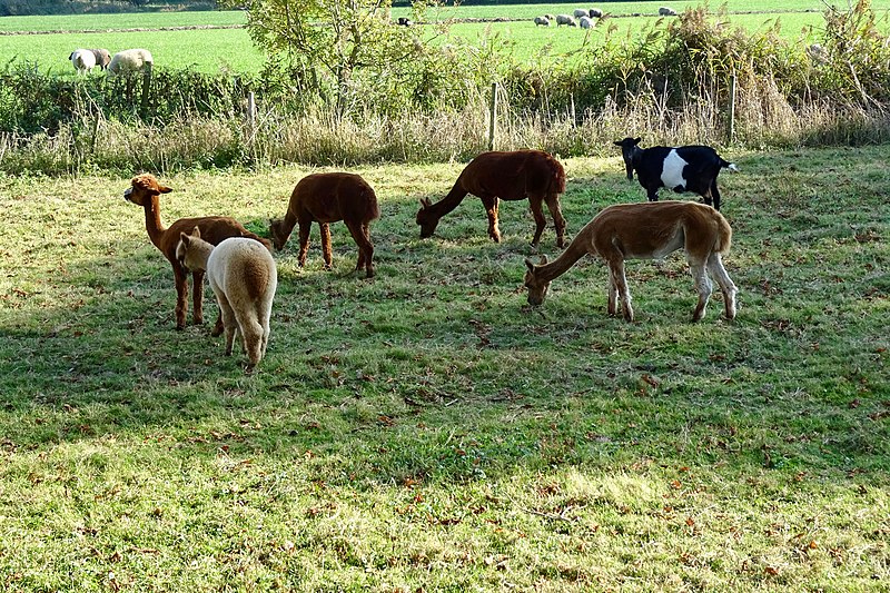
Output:
[[[704,202],[720,209],[720,190],[716,176],[721,169],[738,171],[733,162],[723,160],[710,146],[653,146],[640,148],[640,138],[616,141],[624,158],[627,179],[636,179],[646,190],[649,201],[657,201],[659,188],[666,187],[676,192],[692,191],[704,198]]]

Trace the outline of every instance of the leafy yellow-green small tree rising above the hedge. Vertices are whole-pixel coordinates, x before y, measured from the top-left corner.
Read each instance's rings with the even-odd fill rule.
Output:
[[[415,3],[415,19],[431,4]],[[333,95],[343,115],[363,80],[397,76],[424,53],[411,27],[390,21],[390,8],[392,0],[254,0],[247,27],[270,59],[300,72],[304,88]]]

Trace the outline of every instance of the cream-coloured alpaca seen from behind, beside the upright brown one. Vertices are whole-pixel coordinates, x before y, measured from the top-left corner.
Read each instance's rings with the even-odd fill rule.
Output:
[[[207,271],[226,329],[226,356],[231,355],[240,333],[248,368],[256,366],[269,344],[271,302],[278,287],[278,270],[268,249],[244,237],[214,247],[195,227],[191,235],[179,234],[176,259],[186,269]]]

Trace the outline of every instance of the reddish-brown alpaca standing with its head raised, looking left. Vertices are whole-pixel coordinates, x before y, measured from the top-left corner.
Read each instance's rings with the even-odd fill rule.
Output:
[[[176,280],[176,328],[182,329],[186,327],[186,314],[188,313],[188,284],[187,271],[176,259],[176,245],[179,243],[180,233],[190,233],[191,229],[198,227],[205,240],[212,245],[228,237],[256,239],[265,245],[269,251],[271,251],[271,245],[269,245],[268,239],[254,235],[244,228],[240,223],[227,216],[181,218],[170,225],[169,228],[164,228],[160,221],[159,196],[170,191],[172,190],[169,187],[159,185],[154,175],[142,174],[132,178],[130,187],[123,191],[123,198],[145,208],[148,238],[151,239],[155,247],[160,249],[160,253],[164,254],[164,257],[174,268],[174,279]],[[201,324],[204,323],[204,271],[195,270],[191,274],[191,283],[194,285],[192,319],[196,324]],[[217,318],[214,335],[217,336],[221,332],[222,322],[220,317]]]

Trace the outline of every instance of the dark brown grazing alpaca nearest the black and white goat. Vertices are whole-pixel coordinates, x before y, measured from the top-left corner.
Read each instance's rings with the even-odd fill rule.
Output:
[[[565,218],[560,209],[560,194],[565,191],[565,171],[555,158],[541,150],[516,150],[513,152],[483,152],[469,161],[454,187],[442,200],[431,204],[429,199],[421,199],[417,224],[421,237],[431,237],[436,230],[439,219],[451,213],[467,194],[482,199],[488,215],[488,236],[501,243],[501,229],[497,227],[498,198],[504,200],[524,200],[535,217],[535,236],[532,245],[537,245],[547,221],[541,208],[547,205],[553,224],[556,226],[556,246],[565,245]]]

